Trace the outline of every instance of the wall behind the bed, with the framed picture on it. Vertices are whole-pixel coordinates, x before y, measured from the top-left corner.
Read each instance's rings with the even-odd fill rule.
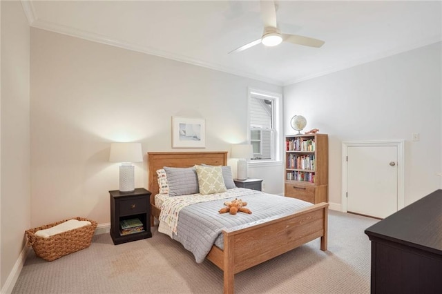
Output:
[[[262,81],[35,28],[31,61],[32,226],[74,216],[110,221],[108,190],[118,189],[111,141],[140,141],[144,153],[185,151],[171,148],[171,117],[202,117],[206,148],[198,150],[230,152],[247,140],[247,87],[282,93]],[[145,157],[135,186],[148,186],[146,173]]]

